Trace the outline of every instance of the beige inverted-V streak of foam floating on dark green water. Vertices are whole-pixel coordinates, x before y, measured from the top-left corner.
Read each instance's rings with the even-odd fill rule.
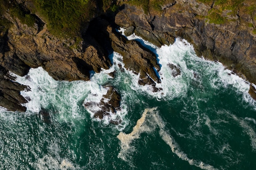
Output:
[[[138,119],[137,124],[133,127],[132,132],[125,134],[120,132],[117,138],[121,142],[121,151],[119,152],[118,157],[124,161],[128,161],[128,154],[133,151],[134,146],[131,146],[131,142],[140,137],[140,134],[143,132],[153,132],[156,127],[159,127],[159,135],[170,146],[171,151],[177,155],[180,159],[187,161],[190,165],[199,167],[204,170],[217,170],[211,165],[203,163],[202,161],[197,161],[190,159],[186,153],[180,150],[179,145],[175,142],[173,137],[165,130],[165,122],[159,116],[156,111],[156,108],[145,109],[141,118]]]

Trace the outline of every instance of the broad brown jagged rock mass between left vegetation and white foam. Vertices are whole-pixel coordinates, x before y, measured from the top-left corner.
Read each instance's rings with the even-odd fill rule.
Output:
[[[79,51],[73,47],[74,40],[57,38],[46,26],[38,32],[38,27],[28,28],[18,19],[12,21],[17,22],[8,31],[5,43],[9,49],[0,53],[0,64],[13,73],[24,76],[30,67],[42,66],[56,80],[89,80],[89,71],[98,73],[111,66],[101,46],[87,46],[88,42],[83,41],[78,44]]]

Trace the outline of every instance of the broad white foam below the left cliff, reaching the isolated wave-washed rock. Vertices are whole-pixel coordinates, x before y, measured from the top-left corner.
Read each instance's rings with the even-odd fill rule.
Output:
[[[31,101],[24,104],[27,107],[27,114],[37,114],[41,108],[52,107],[53,113],[58,113],[55,118],[57,121],[74,121],[74,119],[84,119],[83,101],[92,102],[88,112],[93,119],[94,111],[99,109],[99,102],[107,89],[101,86],[108,81],[110,70],[104,70],[95,73],[91,81],[56,81],[43,68],[31,68],[29,73],[20,77],[16,75],[16,81],[30,87],[30,91],[22,91],[21,95],[30,98]],[[126,107],[122,102],[121,107]],[[127,111],[119,110],[117,114],[110,114],[103,119],[103,123],[108,125],[111,120],[117,116],[121,118],[121,124],[116,126],[122,130],[126,126],[124,116]],[[95,121],[101,121],[94,119]]]

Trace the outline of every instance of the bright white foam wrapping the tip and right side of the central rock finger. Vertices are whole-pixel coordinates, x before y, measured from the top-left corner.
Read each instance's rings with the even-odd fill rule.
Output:
[[[124,32],[124,29],[121,29]],[[155,51],[158,55],[159,64],[161,69],[159,71],[159,77],[161,83],[157,83],[157,88],[162,88],[162,91],[153,93],[152,87],[150,85],[141,86],[138,84],[139,75],[134,75],[132,79],[132,89],[144,93],[148,93],[157,99],[173,99],[175,97],[180,97],[186,94],[189,82],[186,82],[184,76],[193,77],[193,71],[186,68],[186,62],[184,61],[184,55],[189,51],[191,52],[192,45],[190,45],[186,40],[177,39],[173,45],[162,46],[160,49],[151,44],[148,41],[143,40],[141,37],[132,34],[127,37],[128,40],[137,40],[142,42],[144,46]],[[195,54],[194,54],[195,55]],[[173,64],[180,68],[181,75],[173,77],[173,70],[168,66],[168,64]],[[134,73],[130,73],[131,75]]]

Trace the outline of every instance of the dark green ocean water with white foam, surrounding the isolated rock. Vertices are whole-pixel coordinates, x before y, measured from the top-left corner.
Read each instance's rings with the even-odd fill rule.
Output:
[[[256,102],[249,82],[221,63],[197,57],[185,40],[156,46],[131,35],[157,54],[157,87],[140,86],[139,75],[113,66],[91,81],[55,81],[31,68],[16,81],[31,101],[26,113],[0,108],[1,170],[256,170]],[[118,64],[122,66],[119,68]],[[173,77],[173,64],[181,74]],[[108,73],[116,71],[115,78]],[[14,74],[13,74],[14,75]],[[121,94],[116,115],[93,118],[105,85]],[[49,112],[45,123],[38,113]],[[119,125],[110,124],[120,119]]]

